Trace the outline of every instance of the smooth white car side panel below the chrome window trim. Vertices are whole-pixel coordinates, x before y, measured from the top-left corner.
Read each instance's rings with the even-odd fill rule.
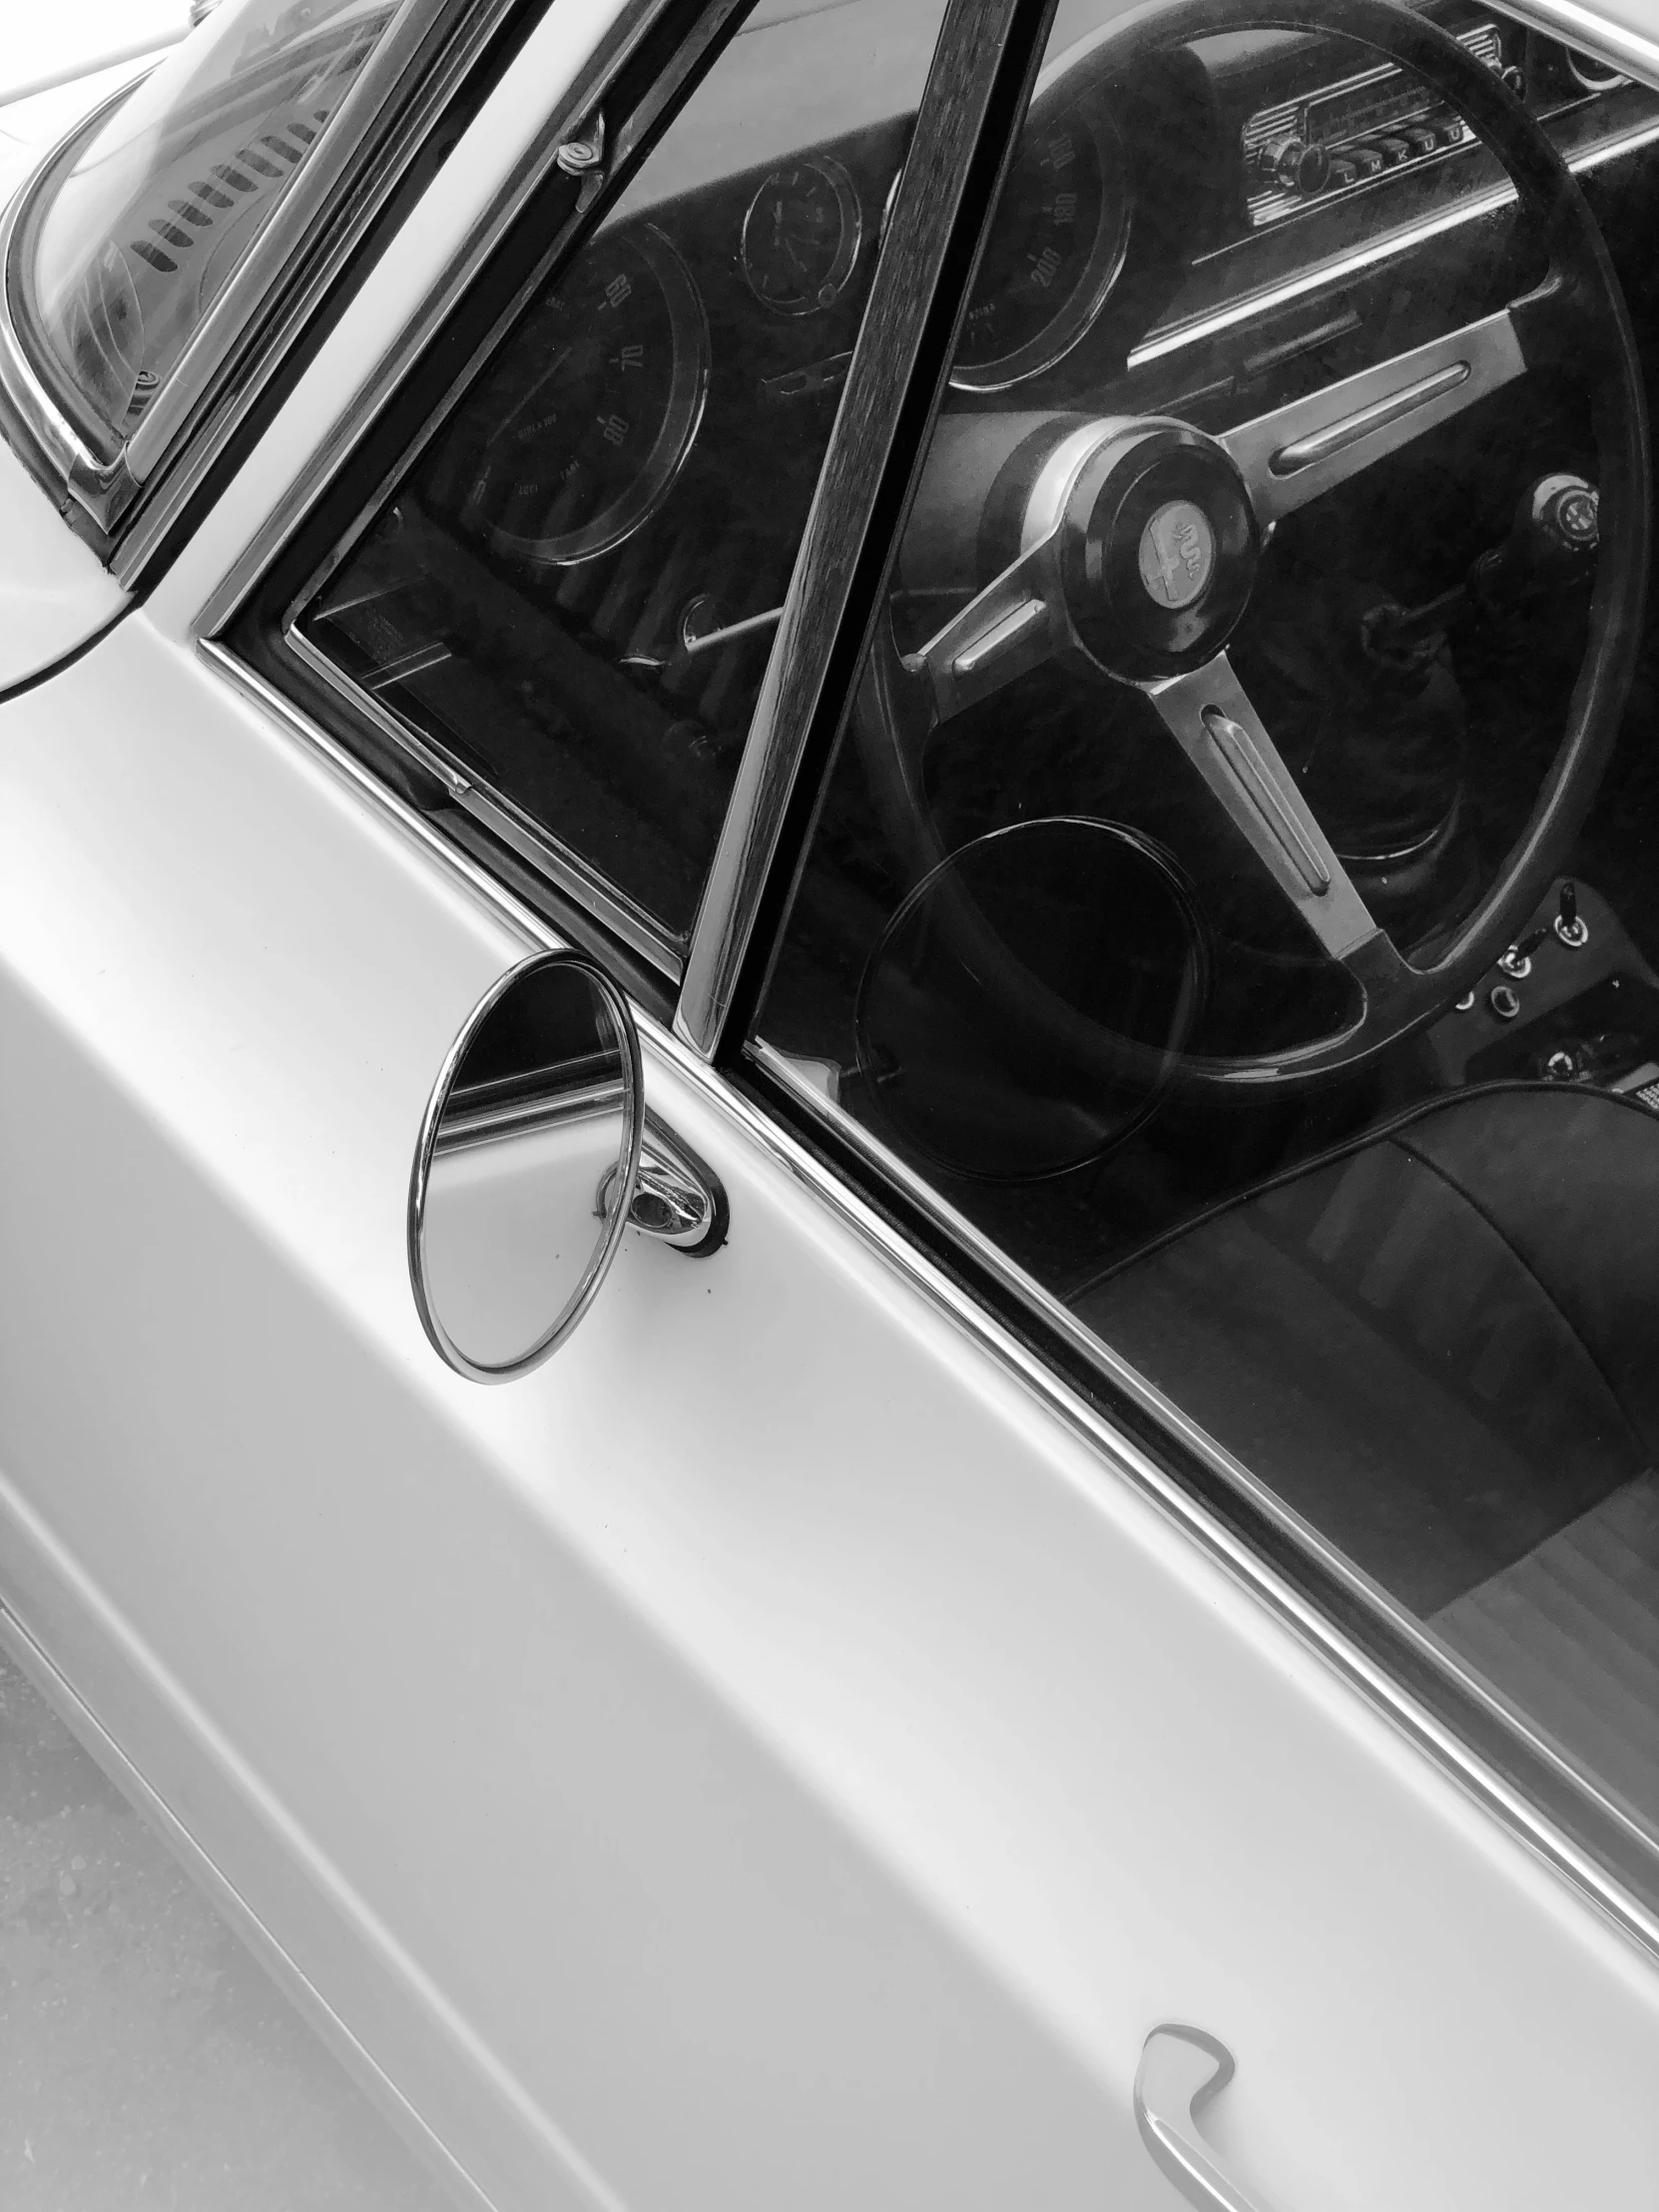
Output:
[[[493,2201],[1150,2212],[1159,2017],[1287,2205],[1641,2197],[1652,1971],[661,1048],[730,1248],[438,1367],[407,1159],[520,947],[387,810],[137,615],[0,823],[7,1604]]]

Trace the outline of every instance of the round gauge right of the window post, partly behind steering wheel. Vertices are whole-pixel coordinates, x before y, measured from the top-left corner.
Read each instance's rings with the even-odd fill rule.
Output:
[[[1124,265],[1130,210],[1106,113],[1073,104],[1026,124],[951,369],[960,392],[1002,392],[1071,352]]]

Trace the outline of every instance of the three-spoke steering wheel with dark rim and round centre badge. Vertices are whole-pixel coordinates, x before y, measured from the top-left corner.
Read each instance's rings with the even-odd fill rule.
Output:
[[[1237,0],[1177,0],[1108,24],[1082,58],[1073,49],[1040,84],[1033,115],[1075,93],[1079,60],[1091,77],[1106,66],[1119,73],[1150,49],[1243,22],[1343,33],[1413,71],[1509,170],[1524,215],[1540,226],[1548,274],[1498,314],[1214,438],[1166,416],[942,418],[929,476],[938,440],[956,438],[936,480],[951,487],[958,542],[975,546],[975,522],[1000,515],[1006,524],[1013,513],[1020,551],[918,653],[900,655],[883,622],[854,706],[878,807],[889,823],[905,816],[909,858],[933,865],[945,847],[922,790],[922,750],[951,714],[1048,659],[1150,701],[1254,865],[1358,987],[1358,1015],[1314,1042],[1225,1060],[1179,1053],[1170,1079],[1212,1095],[1287,1093],[1352,1073],[1444,1013],[1511,942],[1559,872],[1619,730],[1641,641],[1650,518],[1641,372],[1601,232],[1540,124],[1447,31],[1396,0],[1267,0],[1243,18]],[[1599,449],[1588,644],[1526,827],[1438,958],[1413,967],[1369,914],[1225,648],[1274,522],[1528,369],[1559,363],[1573,363],[1590,387]],[[911,531],[918,522],[929,526],[920,500]],[[1026,1024],[1042,1022],[1046,993],[1033,991],[1006,947],[989,942],[982,922],[967,927],[980,973],[1022,998]],[[1062,1020],[1060,1006],[1051,1011]],[[1130,1040],[1102,1042],[1115,1046],[1106,1057],[1119,1075],[1148,1064]]]

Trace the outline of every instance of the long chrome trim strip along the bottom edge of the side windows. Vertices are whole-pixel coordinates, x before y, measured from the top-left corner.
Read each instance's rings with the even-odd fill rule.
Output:
[[[451,845],[416,807],[389,790],[372,768],[367,768],[347,745],[343,745],[323,723],[312,721],[292,699],[272,686],[246,661],[237,659],[215,639],[199,639],[201,659],[252,706],[321,754],[372,807],[394,821],[418,847],[422,847],[451,878],[462,883],[478,900],[524,947],[564,949],[566,940],[524,900],[515,898],[507,885],[467,852]],[[834,1219],[874,1252],[887,1267],[909,1283],[940,1316],[962,1329],[987,1352],[998,1367],[1024,1385],[1042,1407],[1053,1413],[1091,1451],[1099,1453],[1121,1480],[1146,1495],[1175,1526],[1192,1537],[1199,1548],[1214,1559],[1237,1584],[1250,1590],[1267,1610],[1287,1626],[1303,1646],[1314,1650],[1349,1688],[1383,1714],[1418,1752],[1447,1774],[1469,1798],[1491,1814],[1506,1834],[1531,1849],[1548,1865],[1575,1893],[1599,1911],[1613,1927],[1630,1938],[1652,1960],[1659,1960],[1659,1907],[1646,1905],[1628,1891],[1619,1878],[1588,1849],[1584,1849],[1564,1823],[1551,1818],[1517,1785],[1513,1785],[1495,1759],[1484,1756],[1429,1703],[1396,1681],[1376,1659],[1371,1659],[1334,1619],[1321,1613],[1285,1575],[1267,1559],[1259,1557],[1225,1522],[1199,1498],[1175,1480],[1150,1458],[1130,1436],[1091,1402],[1073,1383],[1057,1374],[1024,1338],[1002,1323],[987,1305],[971,1296],[947,1270],[909,1241],[878,1208],[843,1181],[821,1161],[799,1137],[783,1128],[759,1104],[748,1099],[737,1086],[710,1066],[708,1060],[672,1029],[659,1022],[646,1006],[635,1004],[639,1035],[648,1044],[648,1057],[668,1062],[679,1077],[690,1082],[699,1095],[728,1121],[734,1135],[754,1144],[776,1168],[790,1175],[803,1190],[827,1208]],[[792,1097],[816,1117],[825,1115],[825,1099],[790,1071],[790,1064],[770,1046],[757,1048],[759,1064]],[[650,1082],[646,1079],[646,1091]],[[854,1128],[841,1117],[832,1124],[843,1141]],[[1502,1732],[1502,1743],[1517,1739],[1535,1763],[1546,1767],[1559,1783],[1559,1794],[1573,1805],[1595,1798],[1586,1785],[1546,1745],[1528,1736],[1524,1723],[1502,1701],[1473,1683],[1455,1659],[1416,1624],[1402,1615],[1387,1593],[1358,1575],[1340,1553],[1307,1528],[1272,1491],[1267,1491],[1248,1469],[1225,1453],[1214,1438],[1199,1429],[1179,1407],[1161,1398],[1133,1367],[1117,1358],[1099,1338],[1082,1329],[1075,1316],[1053,1298],[1040,1283],[1033,1283],[980,1232],[953,1214],[927,1190],[902,1164],[880,1155],[867,1133],[856,1133],[858,1148],[872,1159],[878,1175],[894,1175],[894,1181],[940,1223],[945,1234],[962,1243],[1020,1303],[1033,1307],[1044,1323],[1057,1329],[1066,1343],[1077,1345],[1084,1358],[1104,1369],[1128,1398],[1141,1405],[1183,1444],[1201,1464],[1239,1489],[1252,1504],[1270,1515],[1298,1546],[1305,1546],[1334,1579],[1354,1590],[1369,1613],[1383,1619],[1422,1655],[1433,1677],[1453,1694],[1467,1701],[1486,1725],[1486,1734]],[[1626,1827],[1630,1827],[1626,1823]],[[1635,1829],[1630,1829],[1635,1836]],[[1646,1843],[1639,1849],[1648,1849]]]

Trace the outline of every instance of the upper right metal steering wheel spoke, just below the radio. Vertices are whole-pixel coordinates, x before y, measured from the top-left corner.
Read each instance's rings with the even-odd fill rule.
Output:
[[[1540,294],[1542,301],[1542,294]],[[1540,314],[1542,314],[1540,305]],[[1509,307],[1221,434],[1263,529],[1526,374]]]

